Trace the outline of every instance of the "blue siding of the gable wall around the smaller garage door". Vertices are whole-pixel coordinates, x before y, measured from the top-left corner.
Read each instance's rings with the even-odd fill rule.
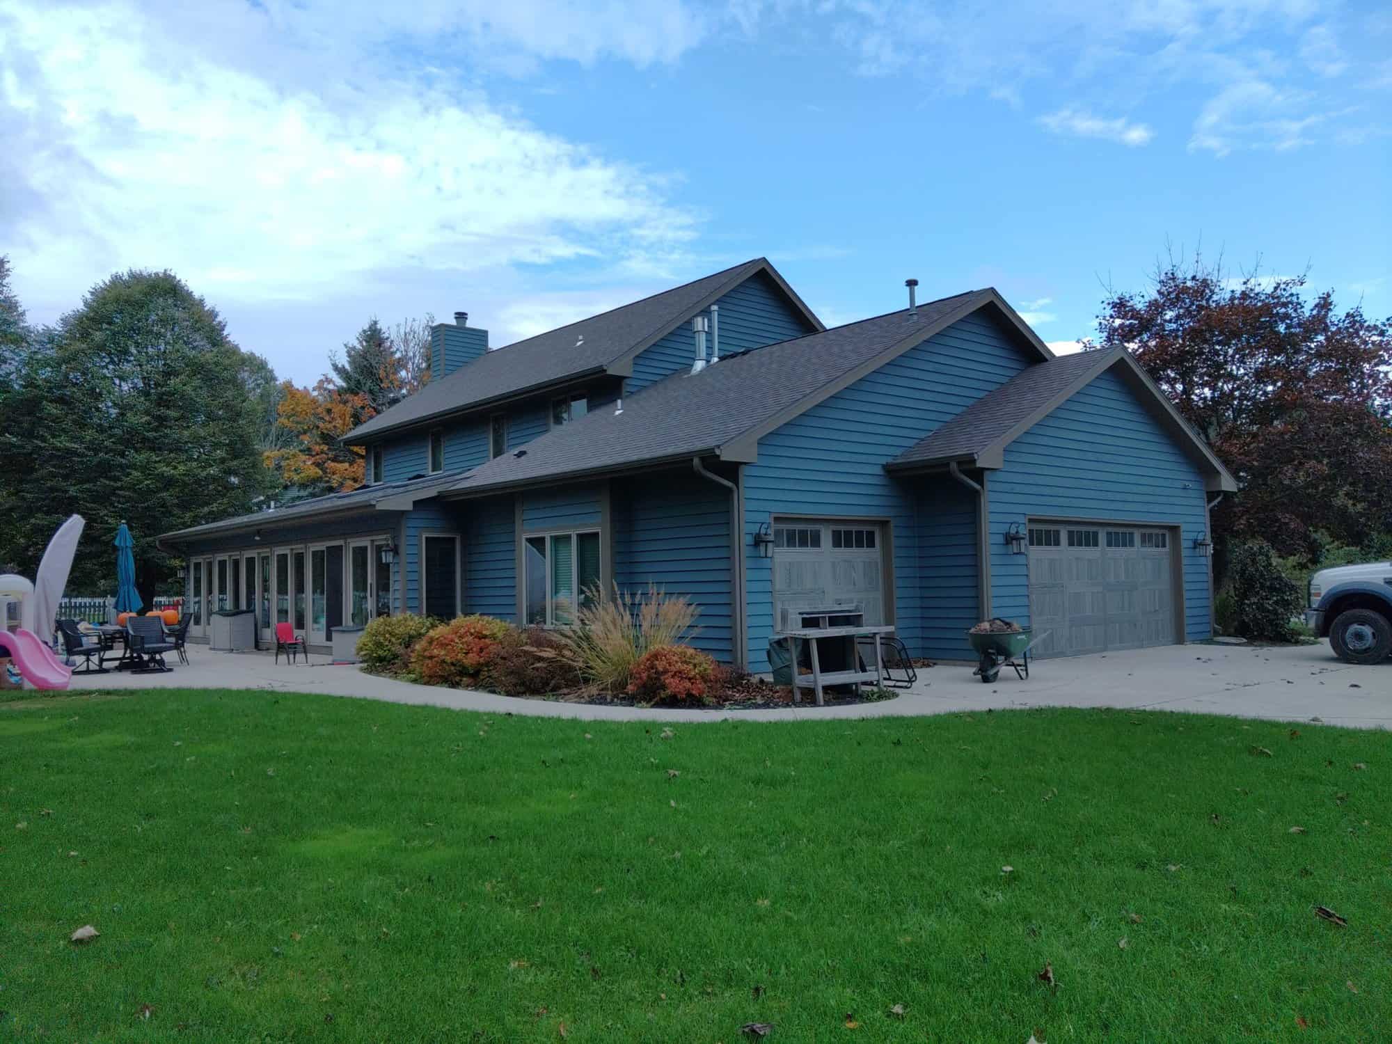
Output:
[[[759,461],[745,466],[746,546],[780,514],[888,519],[895,629],[915,656],[923,654],[930,635],[941,647],[962,610],[954,608],[947,624],[934,622],[926,632],[926,614],[941,603],[924,601],[930,580],[923,572],[919,519],[920,511],[926,516],[938,508],[924,500],[922,479],[891,479],[884,464],[1030,362],[1011,331],[977,312],[770,433],[759,441]],[[947,511],[954,518],[945,525],[955,530],[960,525],[955,497]],[[958,539],[947,530],[927,536]],[[767,671],[773,560],[749,555],[746,576],[749,670]],[[963,656],[960,649],[955,656]]]

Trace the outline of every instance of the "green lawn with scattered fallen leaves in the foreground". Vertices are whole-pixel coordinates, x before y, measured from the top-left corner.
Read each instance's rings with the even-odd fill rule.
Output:
[[[0,1040],[1392,1027],[1385,732],[1022,711],[664,736],[159,690],[0,704]]]

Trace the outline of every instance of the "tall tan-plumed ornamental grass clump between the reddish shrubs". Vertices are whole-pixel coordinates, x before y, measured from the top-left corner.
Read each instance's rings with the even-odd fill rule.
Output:
[[[615,586],[612,599],[600,596],[597,585],[587,587],[587,604],[575,614],[575,626],[557,632],[557,638],[569,650],[580,679],[601,692],[626,692],[643,653],[696,633],[692,625],[699,610],[685,597],[667,597],[654,583],[638,594]]]

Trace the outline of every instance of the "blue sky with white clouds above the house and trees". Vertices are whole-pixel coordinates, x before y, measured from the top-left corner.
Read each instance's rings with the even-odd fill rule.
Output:
[[[1173,248],[1392,313],[1392,13],[1307,0],[0,0],[0,252],[171,267],[309,381],[766,255],[830,324],[998,287],[1051,342]]]

